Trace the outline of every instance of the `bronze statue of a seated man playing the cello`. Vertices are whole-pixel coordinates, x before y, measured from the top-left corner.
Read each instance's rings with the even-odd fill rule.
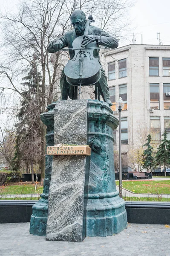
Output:
[[[61,100],[67,100],[68,96],[70,99],[77,99],[78,86],[95,84],[95,94],[98,95],[96,91],[98,89],[104,101],[112,105],[107,76],[99,58],[99,45],[114,49],[118,47],[118,41],[102,29],[89,25],[94,20],[90,15],[87,21],[83,11],[73,12],[71,22],[74,29],[51,41],[48,45],[50,53],[57,52],[64,47],[69,48],[70,61],[63,69],[60,80]],[[73,78],[73,75],[77,76],[77,80]],[[87,75],[89,75],[88,78]]]

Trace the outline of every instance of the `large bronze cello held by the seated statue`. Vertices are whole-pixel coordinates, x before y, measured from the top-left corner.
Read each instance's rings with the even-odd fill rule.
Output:
[[[89,15],[84,35],[88,35],[91,22],[95,22],[95,20],[93,20],[92,15]],[[75,38],[73,41],[74,57],[64,67],[66,80],[73,86],[89,86],[97,83],[101,78],[100,63],[98,58],[93,55],[94,49],[98,48],[97,42],[89,43],[86,46],[82,45],[84,35]]]

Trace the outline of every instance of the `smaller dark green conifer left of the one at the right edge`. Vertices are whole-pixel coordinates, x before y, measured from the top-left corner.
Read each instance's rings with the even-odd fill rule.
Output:
[[[144,163],[143,163],[143,168],[146,168],[147,171],[152,172],[152,167],[154,166],[154,158],[153,158],[153,147],[150,145],[151,142],[151,135],[147,135],[147,143],[143,145],[143,147],[147,147],[147,149],[144,150]]]

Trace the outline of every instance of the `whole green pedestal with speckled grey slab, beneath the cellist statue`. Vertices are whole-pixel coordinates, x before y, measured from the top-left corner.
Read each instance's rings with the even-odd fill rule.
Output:
[[[127,227],[127,214],[125,202],[118,196],[115,186],[112,132],[118,126],[118,119],[113,116],[113,112],[106,102],[98,100],[62,101],[57,102],[57,105],[56,116],[61,121],[55,125],[54,129],[55,145],[58,143],[88,144],[91,146],[91,156],[54,157],[52,167],[54,180],[53,178],[51,180],[52,157],[46,158],[44,190],[42,198],[33,206],[30,233],[46,235],[50,180],[51,199],[49,201],[51,203],[53,201],[55,207],[52,206],[51,210],[49,209],[46,235],[48,240],[82,241],[85,236],[107,236],[119,233]],[[76,108],[74,113],[72,112],[73,106]],[[47,125],[47,138],[51,138],[50,145],[54,145],[54,139],[52,142],[53,108],[54,105],[50,105],[50,115],[49,112],[46,112],[41,117]],[[86,116],[84,112],[84,118],[76,122],[76,119],[81,117],[83,109]],[[78,116],[79,113],[80,116]],[[47,116],[51,116],[51,119]],[[75,122],[74,127],[72,127],[72,122]],[[67,185],[63,186],[64,183]],[[69,183],[71,189],[69,189]],[[78,188],[76,196],[74,183]],[[82,200],[83,191],[84,202]],[[79,212],[76,212],[72,205],[77,206]],[[66,221],[65,217],[68,217],[69,214],[71,214],[70,218],[67,218]]]

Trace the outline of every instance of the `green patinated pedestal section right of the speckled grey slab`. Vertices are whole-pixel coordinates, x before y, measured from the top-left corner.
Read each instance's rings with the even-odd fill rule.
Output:
[[[87,114],[92,153],[84,194],[86,236],[117,234],[127,227],[125,202],[118,196],[115,185],[112,133],[118,119],[107,103],[98,100],[89,101]]]

